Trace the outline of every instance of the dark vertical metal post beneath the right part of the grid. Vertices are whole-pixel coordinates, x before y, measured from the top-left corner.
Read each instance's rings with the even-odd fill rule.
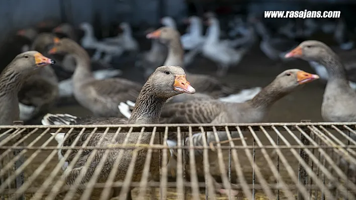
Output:
[[[301,120],[301,123],[310,123],[310,120]],[[307,134],[310,135],[310,130],[306,131]],[[299,133],[299,139],[304,145],[309,145],[309,140],[302,134]],[[308,154],[302,149],[299,149],[300,157],[305,161],[305,163],[309,163],[309,156]],[[298,180],[302,185],[306,185],[308,183],[308,176],[307,172],[305,171],[304,167],[299,163],[298,169]],[[303,195],[298,191],[298,200],[304,199]]]

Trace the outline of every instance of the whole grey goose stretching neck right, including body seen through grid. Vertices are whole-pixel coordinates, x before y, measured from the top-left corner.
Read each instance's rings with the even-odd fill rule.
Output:
[[[217,100],[188,101],[182,103],[166,104],[161,113],[160,123],[260,123],[268,114],[271,106],[282,97],[295,91],[301,85],[318,79],[318,75],[309,74],[299,69],[286,70],[279,74],[276,79],[262,89],[252,100],[244,103],[226,103]],[[209,113],[209,114],[207,114]],[[231,132],[233,138],[239,137],[238,132]],[[214,132],[207,132],[207,142],[215,142]],[[218,131],[219,141],[228,140],[224,131]],[[168,133],[169,147],[177,145],[176,134]],[[193,145],[203,146],[203,133],[193,134]],[[186,146],[190,146],[189,138],[185,138]],[[202,166],[203,150],[195,149],[195,159],[197,166]],[[177,152],[171,149],[170,163],[174,163]],[[189,155],[188,155],[189,156]],[[224,160],[228,160],[228,155],[223,154]],[[209,152],[209,165],[213,175],[220,176],[218,169],[216,152]],[[168,165],[168,171],[174,170],[173,164]],[[214,168],[214,169],[213,169]],[[201,168],[203,169],[203,168]],[[199,171],[203,171],[198,169]],[[217,173],[214,173],[217,172]],[[229,191],[218,188],[220,193],[229,195],[237,194],[237,191]]]

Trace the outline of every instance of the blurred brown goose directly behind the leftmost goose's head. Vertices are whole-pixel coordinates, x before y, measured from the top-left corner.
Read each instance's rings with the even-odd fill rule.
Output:
[[[39,34],[31,50],[44,52],[46,55],[48,46],[53,44],[53,39],[52,34]],[[47,112],[57,100],[58,93],[58,79],[52,67],[36,70],[19,91],[20,119],[28,121],[37,114]]]

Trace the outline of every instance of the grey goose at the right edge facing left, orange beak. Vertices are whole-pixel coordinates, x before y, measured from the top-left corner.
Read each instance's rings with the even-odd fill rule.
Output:
[[[355,122],[356,121],[356,91],[352,89],[346,78],[345,68],[340,58],[327,45],[320,41],[309,40],[302,42],[297,48],[292,50],[286,57],[299,58],[305,61],[317,62],[328,73],[323,101],[321,104],[321,116],[326,122]],[[349,132],[350,142],[355,143],[356,135]],[[353,163],[340,159],[342,168],[346,168],[346,175],[355,181],[356,166]],[[331,188],[336,188],[331,183]]]

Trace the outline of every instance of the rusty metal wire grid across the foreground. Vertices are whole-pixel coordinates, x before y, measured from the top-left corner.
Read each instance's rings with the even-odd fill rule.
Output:
[[[355,125],[307,122],[0,126],[0,199],[109,199],[111,188],[115,187],[121,187],[115,199],[124,199],[133,187],[133,199],[235,199],[230,195],[234,191],[239,199],[356,199],[356,142],[352,139],[356,136]],[[75,146],[83,134],[130,137],[133,132],[139,132],[140,137],[151,132],[150,143],[100,145],[99,141],[96,146],[86,146],[88,141],[84,141],[82,146]],[[177,134],[170,158],[168,132]],[[202,145],[193,144],[197,132],[203,133]],[[66,133],[65,138],[73,133],[78,136],[71,146],[59,147],[54,140],[58,133]],[[163,142],[153,144],[155,135]],[[225,141],[221,141],[221,135],[225,135]],[[60,160],[58,149],[68,149]],[[85,149],[93,149],[92,154],[99,149],[106,151],[90,181],[66,185],[62,165],[71,151],[77,151],[68,166],[72,168]],[[125,179],[116,180],[114,176],[119,155],[106,182],[97,182],[108,152],[117,149],[136,149]],[[137,149],[147,154],[141,179],[133,182],[133,166],[140,156]],[[160,177],[151,180],[150,162],[157,151],[162,153]],[[93,157],[88,158],[84,168],[90,167]],[[175,162],[168,164],[170,159]],[[78,188],[84,191],[77,193]],[[219,194],[222,188],[227,194]],[[95,194],[96,189],[100,192]]]

